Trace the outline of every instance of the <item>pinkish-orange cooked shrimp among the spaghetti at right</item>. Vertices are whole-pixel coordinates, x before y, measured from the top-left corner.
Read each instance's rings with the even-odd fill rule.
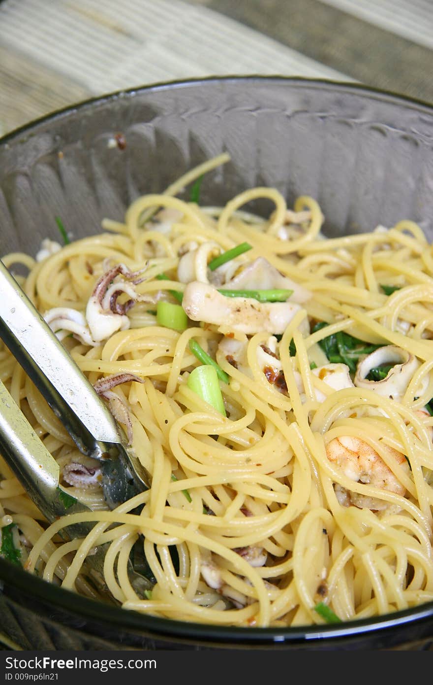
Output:
[[[390,459],[395,460],[395,464],[409,473],[409,464],[404,454],[386,445],[384,445],[384,449],[386,449]],[[326,445],[326,456],[330,462],[339,466],[347,478],[355,482],[369,484],[402,497],[406,495],[406,488],[399,482],[397,476],[385,464],[378,452],[360,438],[353,438],[352,436],[333,438]],[[354,504],[354,506],[372,510],[381,510],[388,506],[385,501],[359,495],[352,491],[347,492],[341,486],[336,488],[336,494],[339,502],[344,506]]]

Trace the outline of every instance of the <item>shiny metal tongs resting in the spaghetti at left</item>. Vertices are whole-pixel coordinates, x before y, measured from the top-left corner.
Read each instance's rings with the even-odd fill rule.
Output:
[[[81,453],[101,461],[102,488],[110,509],[148,488],[148,476],[109,409],[0,260],[0,338],[47,400]],[[0,380],[0,453],[48,521],[89,508],[65,497],[60,469]],[[68,537],[88,534],[94,524],[62,529]],[[71,527],[72,528],[72,527]],[[99,581],[105,551],[89,556]],[[137,590],[150,584],[132,566]]]

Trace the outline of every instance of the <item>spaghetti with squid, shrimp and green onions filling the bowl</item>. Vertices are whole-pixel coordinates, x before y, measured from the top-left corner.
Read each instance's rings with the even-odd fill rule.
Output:
[[[105,545],[125,609],[252,630],[432,600],[432,249],[405,220],[326,238],[313,198],[287,208],[274,188],[201,207],[196,179],[227,159],[97,235],[3,258],[151,486],[109,510],[101,464],[3,347],[3,382],[93,511],[48,525],[1,461],[1,554],[97,597],[86,556]],[[246,212],[263,198],[270,216]],[[59,535],[84,520],[86,538]]]

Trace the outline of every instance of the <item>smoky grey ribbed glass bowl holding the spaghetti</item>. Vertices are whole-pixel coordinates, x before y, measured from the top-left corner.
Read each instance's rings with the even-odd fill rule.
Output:
[[[352,84],[224,77],[158,84],[92,99],[0,141],[0,254],[35,254],[122,220],[138,195],[228,151],[200,203],[254,186],[319,201],[324,233],[399,219],[433,238],[433,108]],[[182,194],[180,195],[182,197]],[[186,197],[186,195],[185,195]],[[259,214],[266,201],[251,204]],[[16,649],[430,649],[433,602],[376,619],[297,628],[182,623],[127,612],[43,582],[0,559],[3,640]]]

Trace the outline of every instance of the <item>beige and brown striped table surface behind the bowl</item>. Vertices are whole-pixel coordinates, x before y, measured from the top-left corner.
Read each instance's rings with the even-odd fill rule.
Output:
[[[433,103],[432,0],[0,0],[0,134],[114,90],[226,74]]]

